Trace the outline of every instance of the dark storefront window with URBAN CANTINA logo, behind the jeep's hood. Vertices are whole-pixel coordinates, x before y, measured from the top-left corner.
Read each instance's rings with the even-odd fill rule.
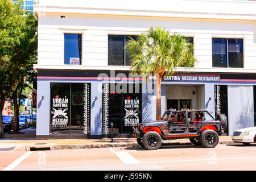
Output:
[[[117,92],[117,84],[102,85],[102,134],[132,133],[132,125],[142,122],[141,84],[127,84],[126,89]],[[125,86],[126,87],[126,86]],[[122,89],[122,88],[121,88]]]

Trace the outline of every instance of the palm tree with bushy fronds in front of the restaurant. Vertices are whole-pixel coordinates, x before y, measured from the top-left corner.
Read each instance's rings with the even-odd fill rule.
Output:
[[[148,75],[156,76],[156,119],[161,114],[161,81],[164,75],[174,75],[177,67],[185,71],[194,67],[196,58],[193,45],[179,33],[170,34],[169,30],[150,27],[135,40],[126,43],[127,54],[131,58],[130,71],[147,80]]]

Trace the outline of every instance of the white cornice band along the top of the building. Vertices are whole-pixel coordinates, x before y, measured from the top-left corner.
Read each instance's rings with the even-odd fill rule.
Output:
[[[206,0],[44,0],[34,5],[37,16],[59,13],[236,20],[256,20],[255,9],[256,2]]]

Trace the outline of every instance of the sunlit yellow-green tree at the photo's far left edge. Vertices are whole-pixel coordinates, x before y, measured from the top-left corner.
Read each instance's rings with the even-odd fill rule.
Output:
[[[21,64],[14,61],[14,46],[20,44],[20,27],[24,26],[22,1],[0,0],[0,138],[3,138],[2,110],[15,87]]]

